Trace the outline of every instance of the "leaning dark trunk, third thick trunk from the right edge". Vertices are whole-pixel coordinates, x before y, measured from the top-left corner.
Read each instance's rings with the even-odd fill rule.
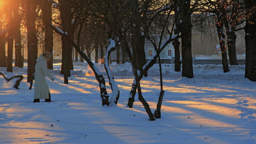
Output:
[[[218,16],[218,23],[216,24],[219,42],[220,42],[220,49],[221,49],[221,56],[222,56],[222,66],[224,73],[229,72],[228,68],[228,58],[227,58],[227,50],[225,46],[225,34],[223,33],[223,21],[221,20],[221,16]]]

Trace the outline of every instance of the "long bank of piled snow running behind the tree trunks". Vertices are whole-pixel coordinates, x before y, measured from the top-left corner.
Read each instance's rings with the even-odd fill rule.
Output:
[[[71,75],[84,77],[86,74],[93,75],[91,68],[88,64],[81,62],[74,62],[74,70],[71,70]],[[95,67],[98,67],[100,72],[106,76],[106,70],[103,64],[95,63]],[[133,71],[130,63],[109,65],[112,75],[114,77],[133,77]],[[52,74],[59,75],[61,69],[61,63],[54,65],[54,70],[49,70]],[[227,81],[243,81],[245,65],[229,65],[230,72],[223,73],[222,65],[193,65],[194,78],[195,79],[216,79]],[[5,67],[0,67],[1,72],[5,72]],[[13,67],[14,72],[27,72],[26,68]],[[174,64],[162,64],[163,77],[181,78],[181,72],[174,71]],[[154,64],[149,70],[150,77],[159,77],[159,65]]]

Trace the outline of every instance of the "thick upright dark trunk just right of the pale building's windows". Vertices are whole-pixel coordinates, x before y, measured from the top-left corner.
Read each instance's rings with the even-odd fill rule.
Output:
[[[192,24],[190,2],[186,1],[181,11],[180,32],[181,32],[181,53],[182,53],[182,76],[194,78],[193,59],[191,48]]]

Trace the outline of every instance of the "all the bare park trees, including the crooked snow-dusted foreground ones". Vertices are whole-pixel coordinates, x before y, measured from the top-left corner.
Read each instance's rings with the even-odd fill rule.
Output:
[[[150,120],[161,117],[164,94],[160,53],[172,43],[175,49],[175,71],[193,78],[191,40],[192,33],[216,33],[221,47],[223,71],[228,72],[227,47],[231,65],[237,65],[236,32],[245,31],[246,69],[245,77],[256,81],[256,2],[254,0],[6,0],[0,2],[0,66],[6,66],[5,43],[8,45],[7,71],[12,71],[12,49],[15,41],[15,66],[22,67],[20,30],[27,30],[28,82],[32,81],[38,53],[38,29],[43,29],[45,51],[53,51],[53,31],[61,36],[64,83],[68,84],[73,69],[72,49],[89,64],[99,82],[102,105],[117,104],[119,89],[109,69],[109,56],[117,50],[122,61],[130,61],[134,82],[128,106],[132,107],[136,91]],[[7,9],[7,10],[4,10]],[[165,41],[163,39],[166,39]],[[181,40],[181,42],[180,42]],[[16,42],[17,41],[17,42]],[[151,42],[156,54],[146,62],[145,41]],[[227,43],[227,47],[226,44]],[[182,61],[180,59],[180,44]],[[103,52],[106,48],[106,53]],[[98,58],[100,48],[101,58]],[[112,96],[105,86],[100,70],[91,61],[104,61]],[[120,53],[120,50],[122,53]],[[16,52],[17,51],[17,52]],[[105,55],[105,58],[103,57]],[[17,57],[17,59],[16,59]],[[142,96],[140,80],[158,59],[161,91],[157,110],[152,114]],[[117,57],[120,62],[120,58]],[[53,69],[52,59],[48,68]]]

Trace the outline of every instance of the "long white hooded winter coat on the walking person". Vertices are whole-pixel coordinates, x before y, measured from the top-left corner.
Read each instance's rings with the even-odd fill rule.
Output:
[[[45,75],[53,79],[52,74],[47,69],[47,58],[40,55],[36,59],[35,66],[35,92],[34,99],[48,99],[49,98],[49,87],[45,80]]]

